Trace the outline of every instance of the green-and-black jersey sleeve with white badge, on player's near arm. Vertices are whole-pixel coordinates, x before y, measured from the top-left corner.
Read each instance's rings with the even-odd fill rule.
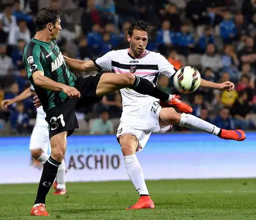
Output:
[[[41,49],[40,46],[30,42],[26,49],[23,51],[23,64],[25,66],[28,78],[36,71],[44,72],[41,64]]]

